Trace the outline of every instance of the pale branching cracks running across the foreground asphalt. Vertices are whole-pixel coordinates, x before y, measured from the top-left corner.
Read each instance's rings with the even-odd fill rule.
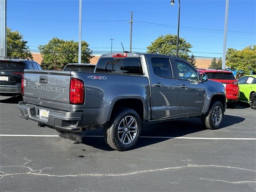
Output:
[[[143,171],[136,171],[136,172],[131,172],[131,173],[124,173],[124,174],[75,174],[75,175],[54,175],[54,174],[43,174],[41,173],[45,169],[51,169],[52,167],[46,167],[42,168],[40,170],[33,170],[32,168],[28,166],[24,166],[32,160],[28,160],[24,158],[24,160],[28,161],[22,165],[13,165],[13,166],[0,166],[0,168],[8,168],[8,167],[23,167],[27,168],[29,171],[28,172],[20,172],[20,173],[5,173],[3,171],[0,171],[3,174],[0,174],[0,178],[2,179],[5,176],[14,176],[14,175],[21,175],[21,174],[31,174],[31,175],[37,175],[37,176],[49,176],[49,177],[78,177],[78,176],[130,176],[134,174],[142,174],[142,173],[147,173],[147,172],[158,172],[158,171],[165,171],[165,170],[175,170],[175,169],[181,169],[181,168],[190,168],[190,167],[218,167],[218,168],[228,168],[228,169],[239,169],[239,170],[245,170],[245,171],[252,171],[256,172],[256,170],[250,170],[250,169],[245,169],[245,168],[240,168],[240,167],[232,167],[232,166],[220,166],[220,165],[193,165],[193,164],[188,164],[186,166],[178,166],[178,167],[167,167],[167,168],[158,168],[158,169],[152,169],[152,170],[143,170]],[[38,172],[38,173],[36,173]],[[229,182],[229,183],[248,183],[248,182],[253,182],[256,183],[256,181],[239,181],[239,182],[231,182],[231,181],[224,181],[224,180],[214,180],[214,179],[206,179],[206,178],[200,178],[202,180],[211,180],[211,181],[220,181],[220,182]]]

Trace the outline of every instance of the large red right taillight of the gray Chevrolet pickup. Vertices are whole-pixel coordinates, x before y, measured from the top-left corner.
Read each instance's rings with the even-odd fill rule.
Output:
[[[84,82],[76,78],[71,78],[69,98],[70,104],[84,103]]]

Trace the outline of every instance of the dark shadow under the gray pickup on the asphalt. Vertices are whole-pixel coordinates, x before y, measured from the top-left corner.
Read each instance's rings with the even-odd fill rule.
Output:
[[[238,124],[240,122],[243,122],[244,120],[245,118],[242,117],[224,115],[224,119],[222,121],[220,129],[232,126],[234,124]],[[145,124],[140,135],[141,138],[134,147],[134,149],[150,146],[152,144],[160,143],[165,140],[170,140],[174,137],[188,136],[189,134],[193,134],[196,132],[199,133],[202,131],[212,132],[212,130],[205,130],[202,126],[200,118],[196,117],[189,118],[187,120]],[[206,132],[204,132],[204,137],[207,137],[205,136]],[[62,134],[60,136],[73,140],[74,144],[85,144],[94,148],[98,148],[100,150],[112,151],[112,149],[109,148],[104,142],[103,128],[99,128],[98,130],[86,130],[85,132],[81,133],[72,133],[66,135]],[[199,134],[194,134],[193,136],[202,137]]]

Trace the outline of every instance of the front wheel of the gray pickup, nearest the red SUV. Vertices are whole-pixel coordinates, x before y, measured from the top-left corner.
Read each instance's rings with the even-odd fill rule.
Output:
[[[220,124],[223,120],[224,116],[224,109],[219,101],[215,101],[210,106],[210,111],[207,115],[201,116],[201,121],[204,126],[204,128],[207,129],[218,129],[220,127]]]

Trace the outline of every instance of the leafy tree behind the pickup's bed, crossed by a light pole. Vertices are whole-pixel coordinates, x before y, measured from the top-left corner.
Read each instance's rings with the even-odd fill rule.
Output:
[[[90,63],[92,50],[88,48],[88,43],[82,41],[82,54],[81,62]],[[73,40],[67,41],[59,38],[52,38],[48,44],[39,46],[40,53],[42,54],[42,68],[51,70],[57,68],[62,70],[68,63],[78,62],[78,42]]]

